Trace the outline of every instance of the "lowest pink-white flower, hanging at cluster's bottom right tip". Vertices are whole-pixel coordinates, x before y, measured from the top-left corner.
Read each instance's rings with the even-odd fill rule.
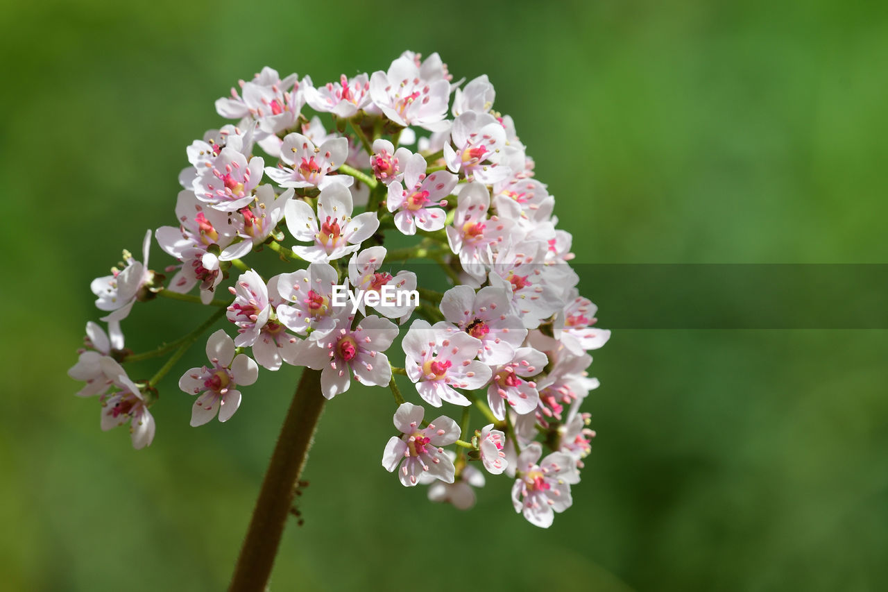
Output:
[[[511,501],[516,512],[527,522],[549,528],[555,512],[570,508],[570,485],[580,482],[575,461],[564,452],[552,452],[539,464],[543,449],[532,442],[518,457],[518,479],[511,488]]]

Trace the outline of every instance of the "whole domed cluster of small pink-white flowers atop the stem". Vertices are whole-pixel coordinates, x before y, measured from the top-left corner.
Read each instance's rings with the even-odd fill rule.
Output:
[[[92,282],[110,336],[87,324],[69,374],[86,383],[78,395],[99,396],[102,428],[129,422],[133,445],[151,444],[157,384],[224,316],[208,364],[178,380],[195,397],[191,425],[250,404],[240,388],[259,366],[321,371],[317,396],[328,399],[353,380],[391,388],[398,434],[382,464],[401,484],[430,484],[431,500],[469,508],[472,487],[485,483],[480,468],[504,474],[516,511],[549,526],[571,505],[590,452],[580,406],[598,381],[588,352],[610,332],[577,290],[571,236],[495,99],[487,76],[454,83],[438,54],[413,52],[324,85],[264,68],[219,99],[229,123],[186,148],[175,224],[147,233],[141,261],[124,252]],[[175,260],[169,282],[148,268],[152,235]],[[390,239],[409,246],[392,249]],[[269,256],[287,271],[263,275]],[[411,259],[431,261],[452,287],[426,289],[431,277],[393,267]],[[158,296],[216,312],[170,345],[133,354],[121,321]],[[399,340],[403,358],[392,351]],[[148,380],[123,369],[167,354]],[[456,405],[460,420],[425,422],[397,375],[415,386],[408,395]]]

